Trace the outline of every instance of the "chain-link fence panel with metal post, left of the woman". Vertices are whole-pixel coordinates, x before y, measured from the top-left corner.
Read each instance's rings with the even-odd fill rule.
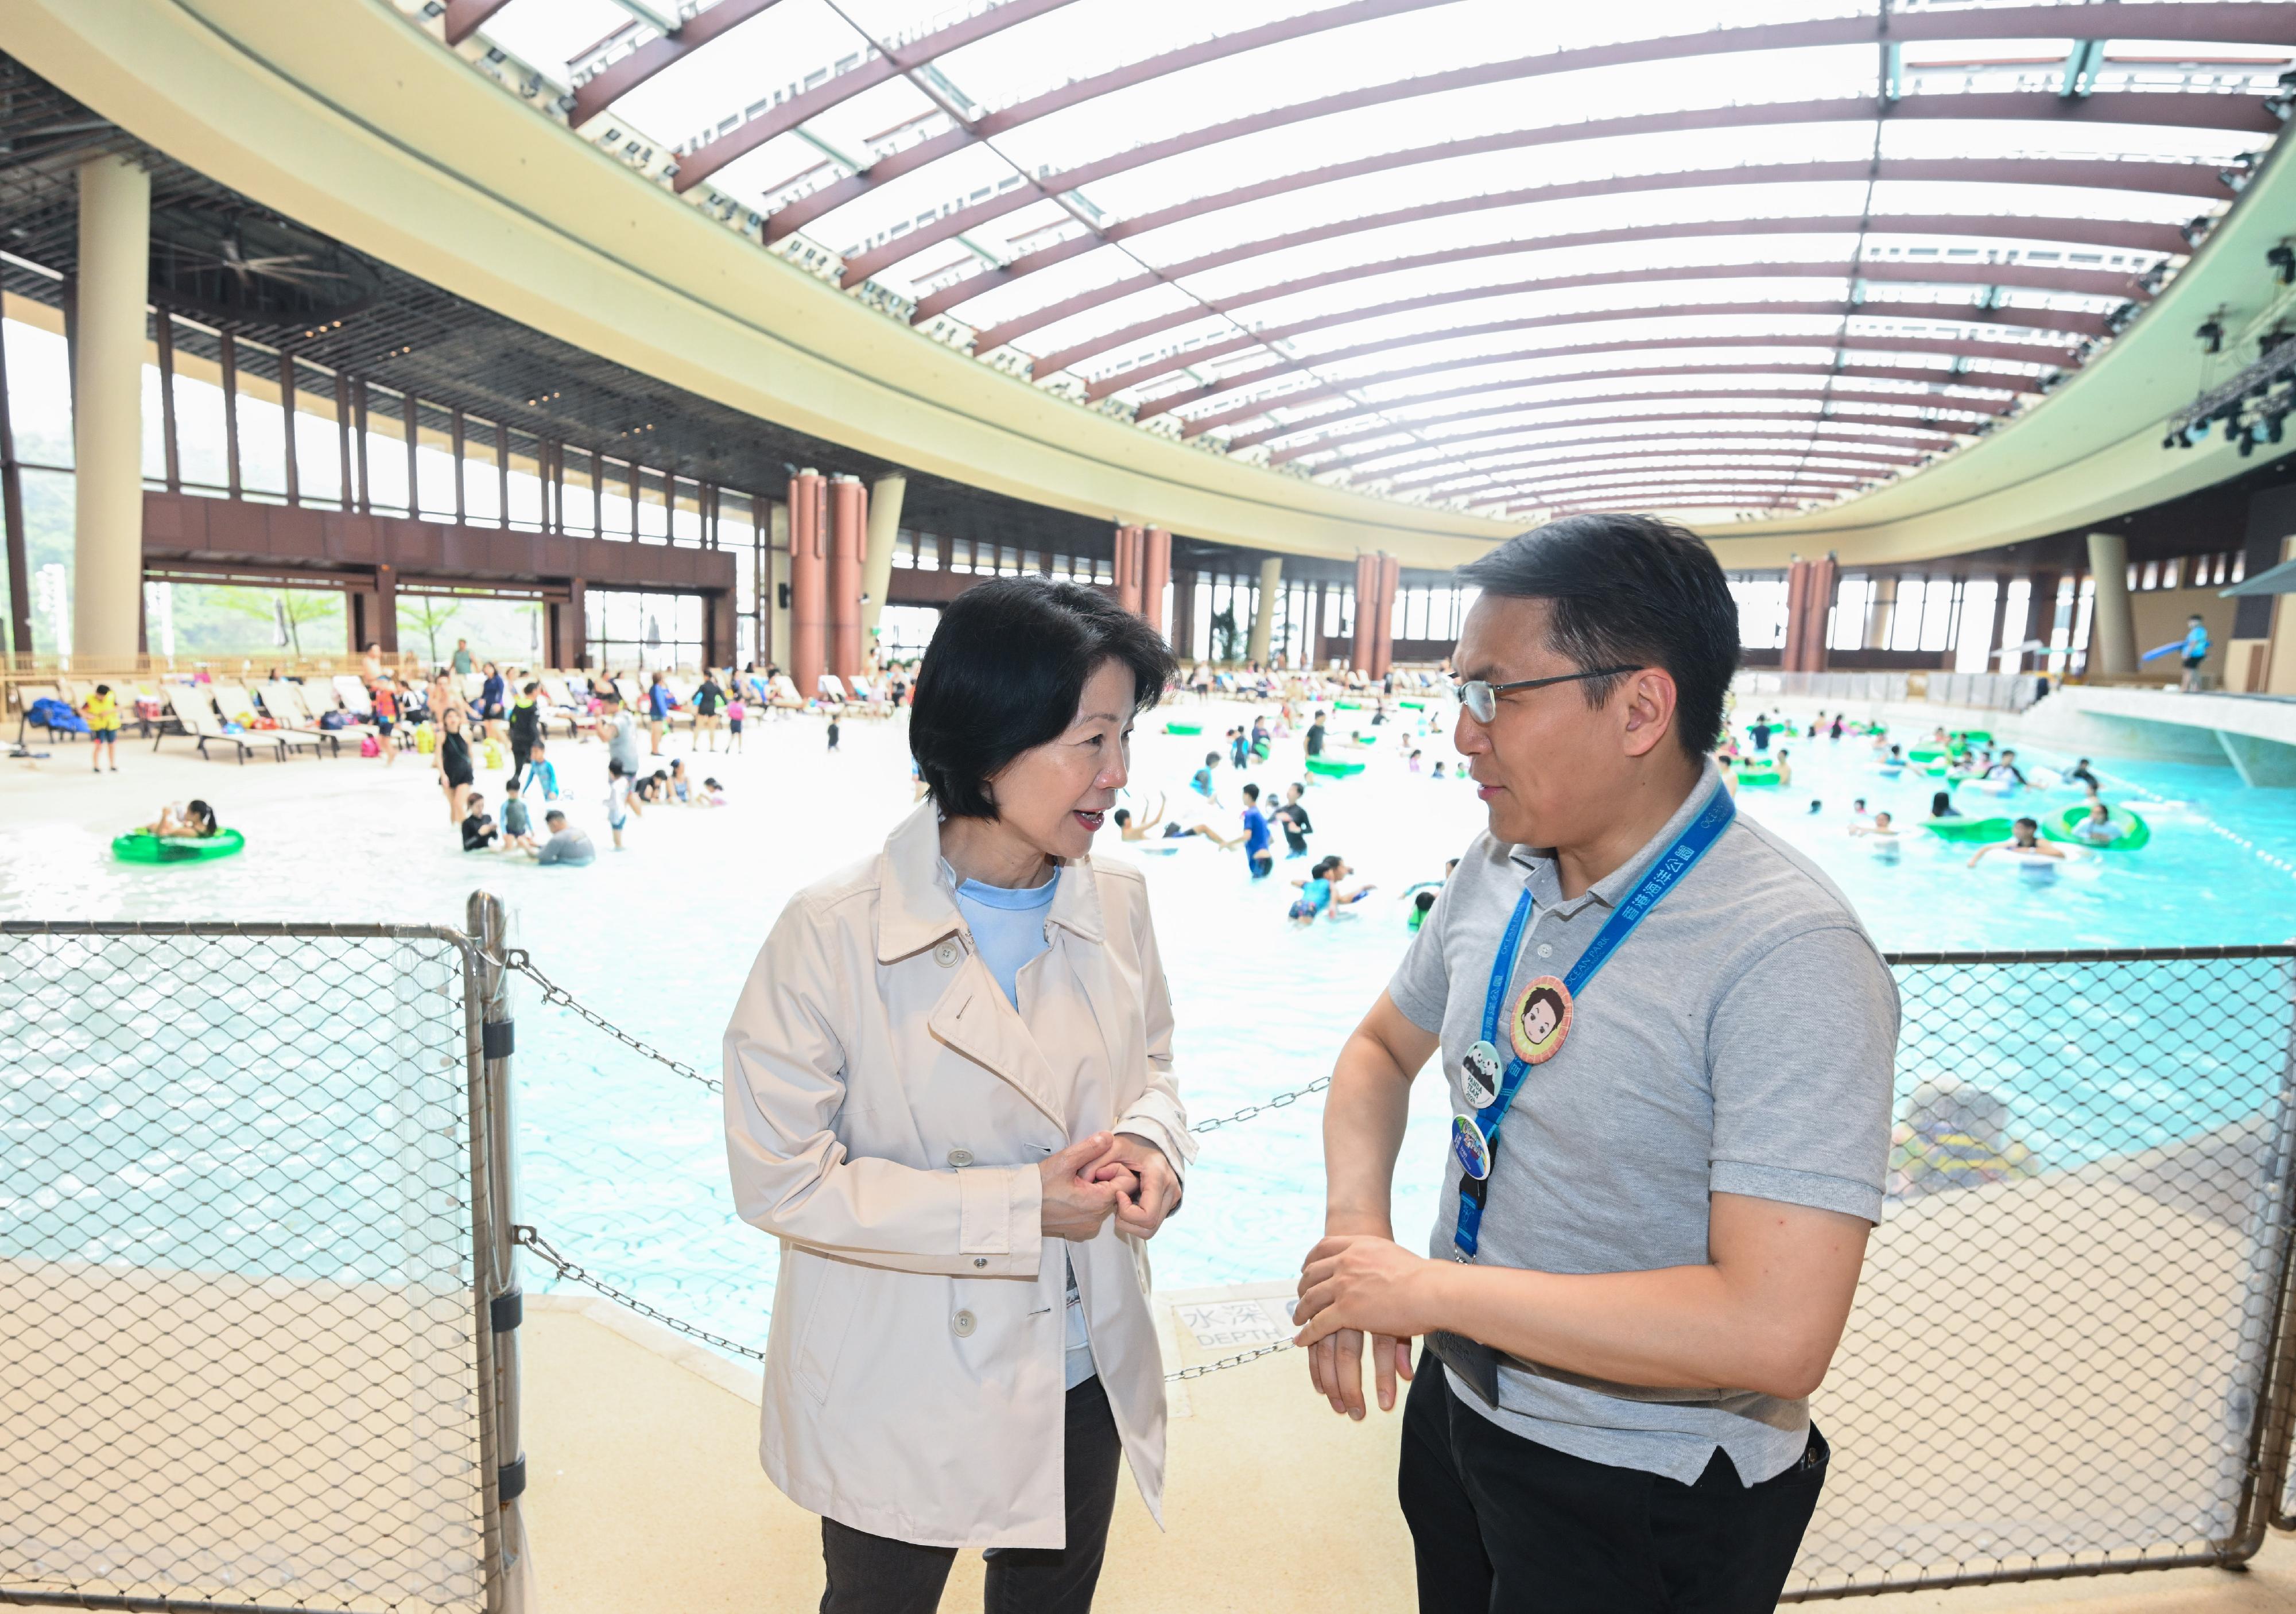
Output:
[[[514,1603],[482,962],[0,925],[0,1603]]]

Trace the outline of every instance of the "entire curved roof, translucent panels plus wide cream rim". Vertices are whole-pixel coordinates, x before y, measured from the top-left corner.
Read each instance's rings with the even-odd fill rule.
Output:
[[[1212,544],[1632,501],[1887,565],[2243,468],[2163,429],[2287,312],[2296,7],[1580,11],[25,0],[11,53],[602,358]]]

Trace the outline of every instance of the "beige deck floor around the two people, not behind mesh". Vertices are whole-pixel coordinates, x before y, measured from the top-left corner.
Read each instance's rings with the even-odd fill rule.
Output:
[[[1235,1290],[1242,1297],[1270,1286]],[[1159,1306],[1166,1352],[1205,1350]],[[567,1295],[528,1304],[530,1614],[810,1614],[820,1524],[758,1469],[751,1373],[666,1329]],[[1401,1417],[1334,1417],[1290,1352],[1176,1387],[1166,1524],[1125,1483],[1100,1603],[1125,1614],[1401,1614],[1417,1605],[1394,1502]],[[941,1607],[980,1607],[960,1554]],[[2296,1538],[2245,1573],[2163,1570],[1899,1593],[1876,1614],[2264,1614],[2296,1609]]]

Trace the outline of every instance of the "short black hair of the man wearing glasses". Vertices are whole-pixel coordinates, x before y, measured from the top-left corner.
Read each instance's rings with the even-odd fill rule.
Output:
[[[1674,675],[1674,737],[1690,755],[1722,739],[1722,698],[1738,675],[1738,602],[1722,562],[1655,517],[1580,514],[1520,533],[1458,569],[1486,595],[1554,606],[1548,645],[1570,666],[1660,666]],[[1614,677],[1580,684],[1598,707]]]

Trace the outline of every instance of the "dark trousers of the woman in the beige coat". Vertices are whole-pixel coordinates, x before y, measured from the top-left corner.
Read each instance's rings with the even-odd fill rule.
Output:
[[[1120,1451],[1109,1394],[1097,1378],[1088,1378],[1068,1391],[1068,1545],[1058,1552],[990,1547],[987,1614],[1091,1614],[1100,1561],[1109,1550],[1109,1515],[1116,1513]],[[934,1614],[957,1550],[918,1547],[822,1520],[822,1561],[829,1568],[822,1614]]]

